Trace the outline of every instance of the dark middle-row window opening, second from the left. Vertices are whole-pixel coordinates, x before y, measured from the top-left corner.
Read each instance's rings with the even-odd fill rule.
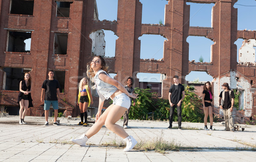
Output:
[[[54,33],[54,50],[55,55],[67,55],[67,33]]]

